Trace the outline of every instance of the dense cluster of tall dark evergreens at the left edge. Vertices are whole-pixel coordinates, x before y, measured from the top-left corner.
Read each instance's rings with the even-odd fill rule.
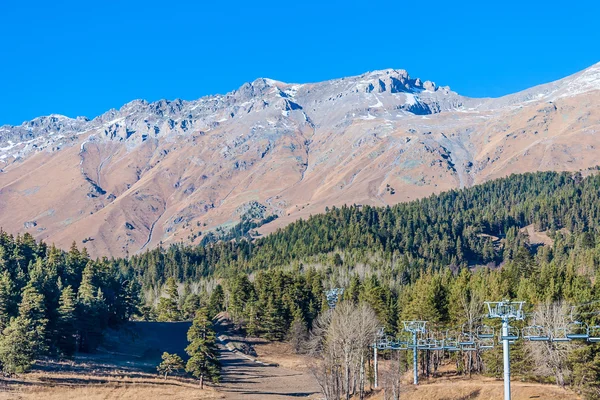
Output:
[[[0,366],[27,371],[40,356],[93,351],[106,328],[128,321],[140,286],[92,260],[75,244],[68,252],[26,233],[0,230]]]

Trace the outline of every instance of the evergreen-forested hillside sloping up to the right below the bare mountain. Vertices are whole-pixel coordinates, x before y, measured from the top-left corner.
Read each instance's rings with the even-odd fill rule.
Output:
[[[527,225],[593,234],[600,221],[599,187],[599,175],[512,175],[391,207],[332,207],[254,240],[174,244],[115,263],[144,288],[155,288],[169,277],[227,277],[351,249],[376,253],[384,262],[401,259],[396,273],[408,281],[425,269],[498,265],[518,248],[518,231]],[[500,239],[508,243],[499,246]]]

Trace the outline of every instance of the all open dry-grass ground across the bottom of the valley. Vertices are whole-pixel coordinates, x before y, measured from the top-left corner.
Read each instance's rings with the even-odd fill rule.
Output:
[[[156,374],[163,351],[184,353],[187,322],[138,322],[114,333],[102,352],[76,356],[73,361],[40,361],[33,372],[0,380],[0,400],[190,400],[190,399],[320,399],[310,371],[311,359],[293,353],[287,343],[235,336],[228,321],[217,329],[223,366],[221,383],[200,390],[197,380]],[[224,336],[223,336],[224,335]],[[252,345],[258,359],[237,349]],[[260,361],[257,361],[260,360]],[[385,362],[382,362],[382,370]],[[409,371],[410,374],[410,371]],[[401,398],[410,400],[492,400],[502,398],[502,381],[473,376],[423,379],[418,387],[407,375]],[[553,385],[513,381],[513,399],[578,400],[570,390]],[[383,400],[382,392],[369,397]]]

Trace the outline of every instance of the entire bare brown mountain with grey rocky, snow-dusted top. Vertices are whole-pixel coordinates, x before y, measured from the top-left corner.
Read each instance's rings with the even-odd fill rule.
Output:
[[[600,63],[495,99],[383,70],[270,79],[196,101],[0,127],[0,226],[95,256],[266,234],[341,204],[387,205],[511,173],[598,164]],[[277,216],[277,219],[273,218]]]

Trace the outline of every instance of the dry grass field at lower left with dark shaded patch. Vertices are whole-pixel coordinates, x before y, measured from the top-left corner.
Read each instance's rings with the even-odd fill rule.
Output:
[[[194,379],[156,373],[163,351],[185,356],[189,323],[138,322],[111,332],[96,354],[70,361],[40,360],[32,372],[0,379],[4,399],[214,399]]]

